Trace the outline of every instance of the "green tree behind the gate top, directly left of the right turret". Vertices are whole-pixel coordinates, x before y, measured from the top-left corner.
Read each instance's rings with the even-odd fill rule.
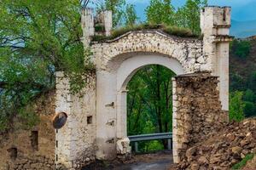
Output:
[[[176,25],[189,28],[193,33],[199,35],[201,8],[207,5],[207,0],[187,0],[182,8],[177,9]]]

